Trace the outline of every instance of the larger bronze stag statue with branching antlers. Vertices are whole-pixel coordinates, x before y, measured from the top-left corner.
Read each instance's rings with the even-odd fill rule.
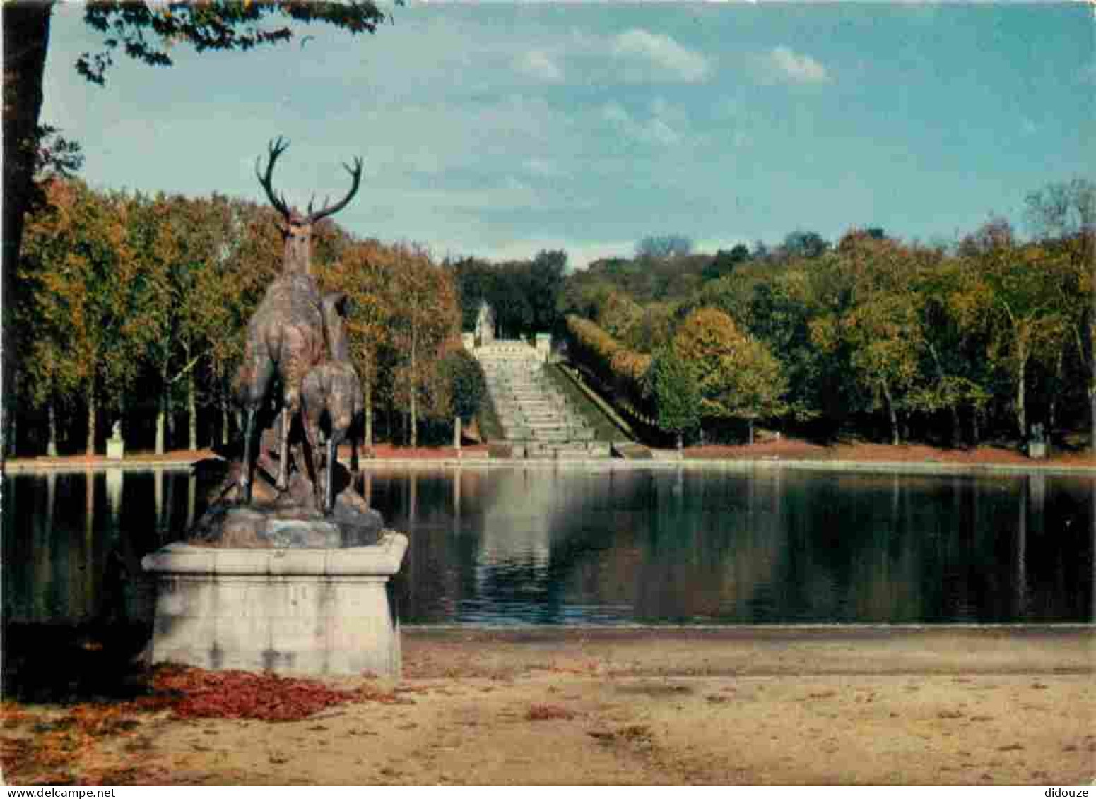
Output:
[[[255,415],[274,375],[281,378],[283,392],[281,459],[275,484],[278,491],[288,488],[289,431],[300,410],[301,384],[312,367],[328,356],[320,292],[311,275],[312,226],[342,210],[357,193],[362,180],[362,159],[355,158],[353,167],[343,164],[352,179],[346,196],[319,210],[312,210],[312,203],[309,201],[307,213],[301,214],[297,208],[290,208],[272,185],[274,164],[288,146],[287,141],[283,142],[282,137],[270,144],[265,173],[260,170],[262,158],[255,161],[255,176],[271,205],[282,215],[278,227],[285,249],[282,274],[266,288],[248,324],[243,363],[236,376],[237,401],[247,415],[243,464],[239,477],[239,495],[246,504],[251,502],[254,467],[251,440],[254,435]]]

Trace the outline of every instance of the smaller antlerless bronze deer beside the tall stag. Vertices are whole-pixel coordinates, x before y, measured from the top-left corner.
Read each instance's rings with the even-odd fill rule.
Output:
[[[300,390],[301,421],[305,437],[312,450],[316,504],[330,514],[334,507],[334,467],[339,445],[362,413],[362,381],[350,359],[346,342],[346,295],[323,296],[323,322],[328,336],[329,357],[305,376]],[[322,425],[327,416],[328,432]],[[352,442],[353,444],[353,442]],[[324,452],[324,448],[327,452]],[[323,469],[321,482],[320,473]]]

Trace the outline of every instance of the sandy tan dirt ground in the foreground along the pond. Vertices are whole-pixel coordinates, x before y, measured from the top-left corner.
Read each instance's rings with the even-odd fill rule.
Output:
[[[279,723],[146,715],[79,753],[70,776],[118,785],[1096,779],[1093,626],[411,627],[402,640],[395,701]],[[5,752],[64,712],[5,710]],[[4,766],[9,781],[34,781],[7,756]]]

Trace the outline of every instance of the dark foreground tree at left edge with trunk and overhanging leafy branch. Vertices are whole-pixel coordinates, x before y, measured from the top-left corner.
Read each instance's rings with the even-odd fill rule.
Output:
[[[399,0],[397,0],[399,1]],[[15,369],[13,352],[13,308],[19,304],[19,284],[13,276],[18,269],[23,222],[33,196],[35,153],[41,130],[42,81],[49,44],[49,23],[54,0],[43,2],[8,2],[0,5],[3,26],[3,270],[2,374],[0,391],[0,436],[8,435],[8,418],[13,412],[10,402]],[[281,24],[267,24],[270,20]],[[294,31],[288,23],[321,22],[358,34],[373,33],[387,15],[372,0],[352,3],[278,0],[214,0],[190,3],[151,4],[100,0],[89,2],[84,21],[103,34],[102,49],[84,53],[77,61],[77,71],[102,85],[113,62],[113,53],[121,49],[127,56],[152,66],[170,66],[171,48],[189,44],[197,52],[247,52],[261,45],[288,42]],[[0,442],[0,459],[7,446]],[[2,463],[2,460],[0,460]]]

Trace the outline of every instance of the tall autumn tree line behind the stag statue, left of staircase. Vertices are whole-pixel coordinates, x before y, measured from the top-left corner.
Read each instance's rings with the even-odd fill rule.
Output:
[[[57,174],[41,190],[13,309],[25,429],[9,441],[26,453],[92,453],[121,422],[130,446],[157,453],[227,444],[248,320],[282,266],[276,214],[221,195],[95,191]],[[351,300],[367,445],[378,433],[437,440],[455,415],[475,415],[482,380],[460,345],[452,269],[330,220],[313,231],[312,263],[322,290]]]

